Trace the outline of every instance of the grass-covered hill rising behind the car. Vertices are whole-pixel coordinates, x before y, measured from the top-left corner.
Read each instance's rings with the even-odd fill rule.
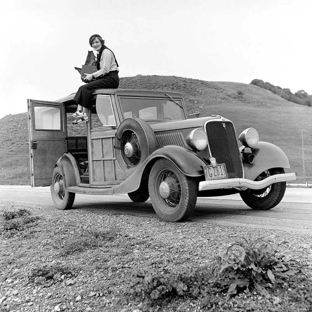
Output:
[[[222,115],[234,122],[237,135],[248,127],[256,128],[261,141],[271,142],[285,152],[291,165],[287,172],[296,172],[300,182],[303,181],[301,130],[304,130],[305,177],[312,181],[311,107],[286,101],[255,85],[176,76],[122,77],[119,88],[180,91],[189,113],[199,110],[201,116]],[[28,185],[27,113],[8,115],[0,121],[0,184]],[[76,126],[76,133],[77,130]]]

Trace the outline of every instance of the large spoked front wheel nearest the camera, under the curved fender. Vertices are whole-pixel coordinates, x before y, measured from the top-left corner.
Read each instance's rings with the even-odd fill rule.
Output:
[[[171,161],[159,159],[149,175],[149,196],[163,221],[184,221],[196,205],[196,181],[180,172]]]

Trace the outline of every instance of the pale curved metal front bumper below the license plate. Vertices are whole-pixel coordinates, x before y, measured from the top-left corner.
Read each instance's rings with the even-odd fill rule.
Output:
[[[241,191],[244,191],[247,188],[251,188],[253,190],[260,190],[261,188],[266,188],[272,183],[293,181],[295,179],[296,179],[295,173],[281,173],[272,175],[261,181],[251,181],[244,178],[202,181],[199,182],[198,190],[206,191],[218,188],[236,188]]]

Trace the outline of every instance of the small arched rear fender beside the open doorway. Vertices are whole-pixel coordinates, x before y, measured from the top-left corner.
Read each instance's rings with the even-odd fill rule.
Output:
[[[56,165],[61,169],[65,180],[65,189],[76,186],[80,183],[80,173],[75,158],[69,154],[63,154],[57,161]]]

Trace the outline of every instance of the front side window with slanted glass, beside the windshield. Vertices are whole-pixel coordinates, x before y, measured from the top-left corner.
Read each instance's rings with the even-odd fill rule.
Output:
[[[91,116],[91,128],[103,126],[115,127],[116,120],[109,95],[98,95],[96,98],[96,114]]]

